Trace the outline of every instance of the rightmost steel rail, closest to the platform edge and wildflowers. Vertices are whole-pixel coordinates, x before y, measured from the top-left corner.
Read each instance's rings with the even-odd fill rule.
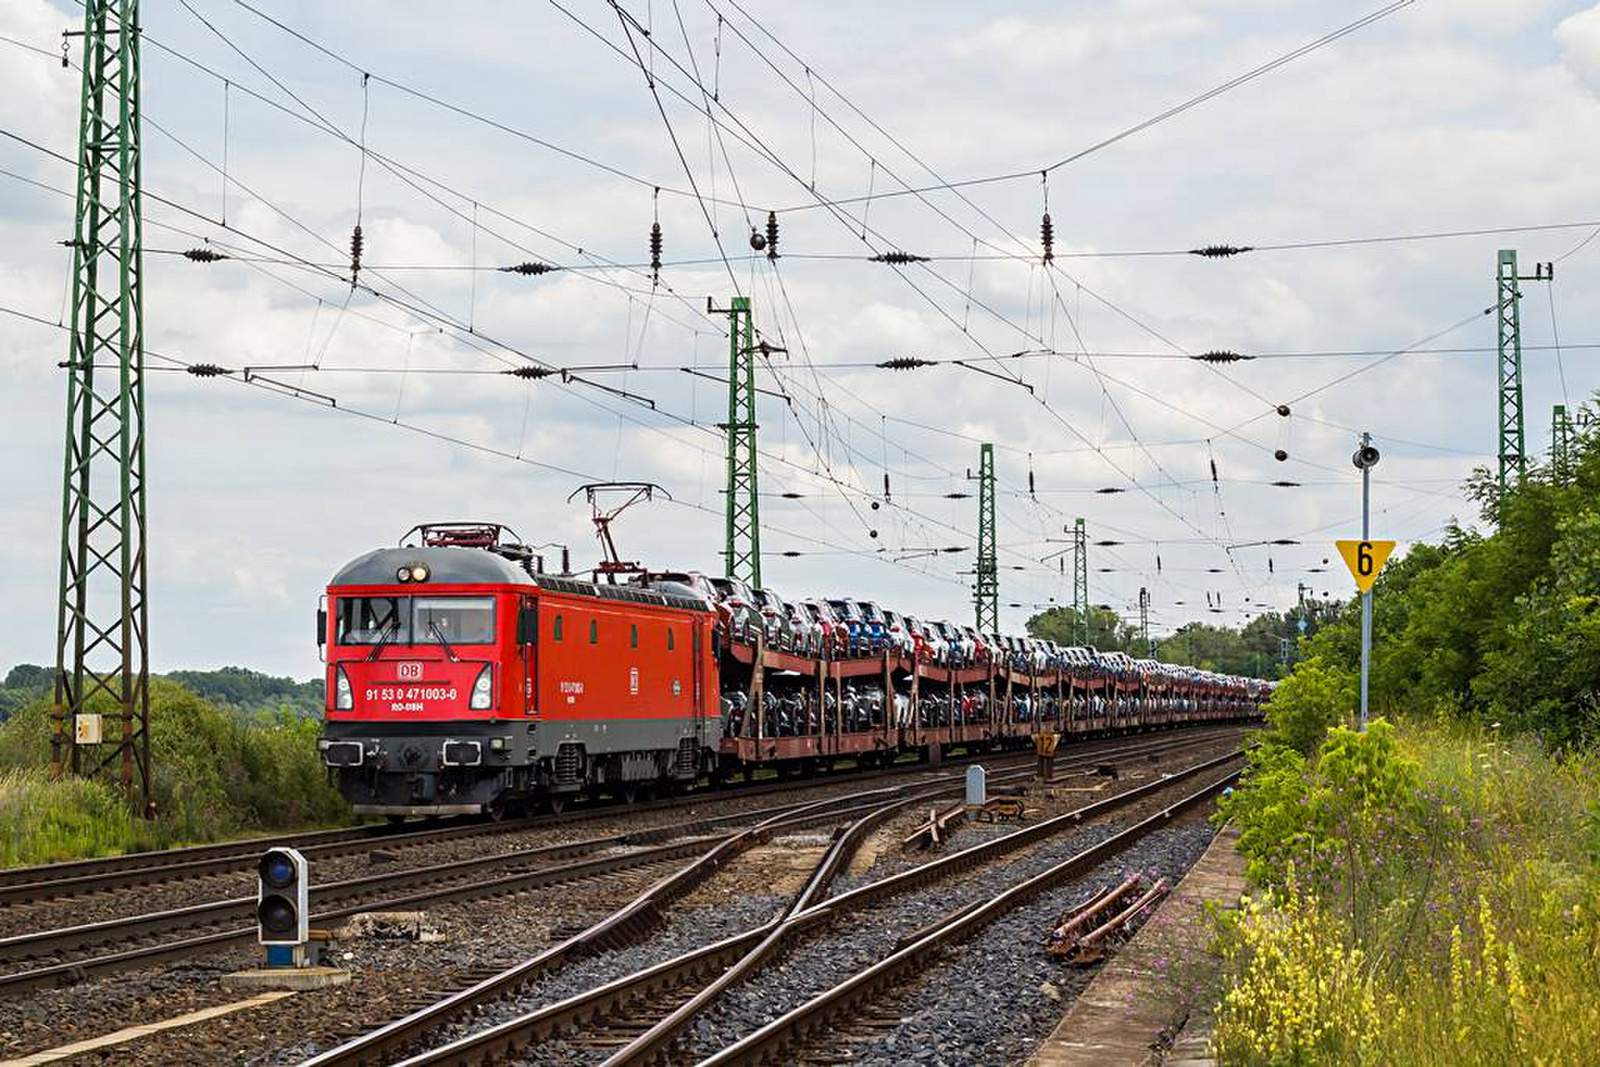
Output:
[[[994,918],[998,918],[1013,907],[1027,902],[1038,893],[1091,869],[1094,864],[1099,864],[1110,856],[1115,856],[1150,830],[1166,825],[1174,814],[1205,803],[1229,784],[1235,782],[1238,774],[1240,771],[1234,769],[1224,777],[1203,785],[1147,819],[1141,819],[1104,841],[1091,845],[1077,856],[1070,856],[1054,867],[1003,889],[989,901],[984,901],[979,907],[974,907],[958,915],[946,926],[928,933],[915,944],[888,955],[818,997],[813,997],[794,1011],[774,1019],[760,1030],[730,1045],[720,1053],[709,1056],[701,1061],[701,1067],[779,1062],[786,1053],[802,1045],[810,1033],[827,1025],[838,1016],[859,1008],[872,997],[880,995],[890,984],[904,982],[910,973],[928,963],[946,945],[976,933],[981,926],[987,925]],[[1168,784],[1173,779],[1166,779]]]

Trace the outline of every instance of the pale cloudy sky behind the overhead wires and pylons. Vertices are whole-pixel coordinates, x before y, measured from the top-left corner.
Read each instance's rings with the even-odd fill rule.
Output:
[[[750,296],[787,349],[760,368],[766,584],[968,617],[973,552],[926,550],[971,545],[976,501],[950,494],[994,442],[1010,629],[1070,601],[1054,553],[1078,515],[1122,542],[1091,550],[1091,600],[1147,587],[1162,632],[1299,582],[1344,595],[1318,568],[1358,530],[1360,429],[1384,450],[1374,536],[1472,520],[1498,248],[1557,261],[1523,286],[1530,451],[1597,387],[1587,0],[1416,0],[1099,149],[1382,5],[251,3],[142,5],[147,347],[317,370],[246,386],[152,357],[155,669],[315,675],[326,579],[418,522],[504,522],[587,566],[566,502],[587,480],[672,494],[621,520],[626,555],[720,571],[707,298]],[[0,6],[0,128],[69,157],[75,21]],[[0,138],[0,664],[48,662],[72,166]],[[776,266],[749,243],[770,210]],[[1552,229],[1328,243],[1493,227]],[[206,242],[234,259],[173,254]],[[1261,250],[1181,254],[1203,245]],[[562,270],[496,270],[518,262]],[[1187,358],[1208,350],[1259,358]],[[939,363],[874,366],[894,357]],[[528,365],[635,370],[501,373]]]

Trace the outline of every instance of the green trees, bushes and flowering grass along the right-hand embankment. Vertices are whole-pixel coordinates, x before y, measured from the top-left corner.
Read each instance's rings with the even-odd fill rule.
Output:
[[[1222,817],[1253,893],[1219,933],[1224,1064],[1600,1061],[1600,445],[1301,643]]]

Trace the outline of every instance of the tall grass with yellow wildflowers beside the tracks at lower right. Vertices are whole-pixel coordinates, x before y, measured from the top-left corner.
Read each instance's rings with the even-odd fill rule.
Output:
[[[1368,776],[1400,782],[1365,814],[1291,816],[1282,865],[1256,864],[1282,873],[1224,931],[1219,1059],[1600,1062],[1600,758],[1461,726],[1397,741],[1355,781],[1325,747],[1235,813],[1283,827]]]

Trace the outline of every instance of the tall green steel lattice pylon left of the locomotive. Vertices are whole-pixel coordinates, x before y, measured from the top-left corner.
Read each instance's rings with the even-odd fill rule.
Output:
[[[50,766],[115,766],[149,814],[139,3],[85,0],[83,11]]]

